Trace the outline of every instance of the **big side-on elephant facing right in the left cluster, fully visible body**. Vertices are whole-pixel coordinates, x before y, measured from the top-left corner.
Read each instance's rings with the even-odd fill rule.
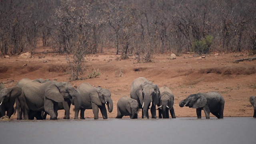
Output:
[[[42,111],[50,115],[51,120],[56,120],[58,116],[58,103],[69,101],[76,97],[75,115],[81,106],[81,96],[69,82],[49,81],[45,83],[28,82],[22,87],[22,94],[18,97],[25,120],[29,119],[29,112]],[[65,110],[69,117],[69,110]],[[75,117],[77,119],[77,117]]]

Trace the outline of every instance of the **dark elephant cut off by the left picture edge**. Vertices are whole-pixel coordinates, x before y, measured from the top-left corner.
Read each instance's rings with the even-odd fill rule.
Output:
[[[14,114],[15,99],[21,93],[22,89],[18,86],[5,88],[3,83],[0,84],[0,117],[6,115],[11,118],[12,114]]]

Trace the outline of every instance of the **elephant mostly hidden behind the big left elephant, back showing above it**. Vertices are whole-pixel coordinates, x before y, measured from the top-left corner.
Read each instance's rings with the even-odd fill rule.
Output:
[[[22,78],[20,81],[18,81],[16,83],[16,86],[19,86],[20,88],[22,88],[28,82],[44,83],[44,82],[49,82],[49,80],[44,80],[42,78],[38,78],[38,79],[34,79],[34,80],[31,80],[29,78]],[[16,111],[17,111],[17,120],[21,120],[22,119],[22,115],[23,115],[23,119],[24,119],[24,114],[22,114],[22,110],[20,108],[20,101],[18,100],[18,98],[15,99],[15,103],[16,103]],[[42,116],[40,115],[40,112],[37,112],[37,113],[30,112],[30,116],[29,117],[30,117],[30,119],[34,119],[34,117],[36,117],[36,119],[42,120]]]

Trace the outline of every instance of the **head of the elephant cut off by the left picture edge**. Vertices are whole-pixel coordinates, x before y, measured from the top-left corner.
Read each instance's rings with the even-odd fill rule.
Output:
[[[5,102],[15,102],[15,99],[21,94],[22,90],[18,86],[11,88],[4,88],[4,85],[0,84],[0,105]]]

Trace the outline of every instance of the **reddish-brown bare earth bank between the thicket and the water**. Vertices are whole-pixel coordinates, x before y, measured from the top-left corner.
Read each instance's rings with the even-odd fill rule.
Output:
[[[167,86],[172,90],[176,117],[196,117],[195,109],[180,108],[178,103],[190,94],[210,91],[219,92],[224,97],[224,117],[252,117],[253,107],[249,97],[256,95],[256,60],[238,63],[234,61],[254,56],[248,56],[246,53],[214,54],[206,55],[205,58],[196,54],[180,54],[173,60],[169,58],[170,54],[156,54],[152,62],[137,63],[133,56],[120,60],[114,49],[106,49],[102,53],[85,57],[86,71],[82,77],[87,77],[93,70],[99,70],[100,76],[70,83],[79,86],[88,82],[92,86],[108,88],[114,103],[114,110],[108,113],[108,118],[116,117],[119,98],[130,96],[131,83],[140,76],[158,87]],[[69,67],[67,57],[58,53],[32,54],[32,58],[2,57],[0,82],[3,82],[6,88],[15,86],[22,78],[67,82],[70,81]],[[58,118],[63,118],[64,110],[59,110],[58,113]],[[70,118],[74,118],[74,112],[71,110],[70,113]],[[86,110],[85,116],[93,118],[92,110]],[[202,111],[202,117],[204,116]],[[214,116],[211,114],[210,117]],[[102,118],[100,113],[99,118]],[[16,119],[16,115],[11,119]]]

